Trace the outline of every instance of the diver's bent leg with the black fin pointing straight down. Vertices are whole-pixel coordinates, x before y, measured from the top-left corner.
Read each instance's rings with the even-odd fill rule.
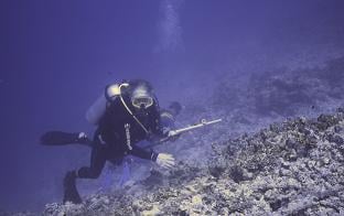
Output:
[[[63,202],[82,203],[77,192],[75,180],[97,179],[106,162],[106,149],[99,144],[94,144],[90,154],[90,166],[84,166],[76,171],[67,172],[64,179],[64,198]]]

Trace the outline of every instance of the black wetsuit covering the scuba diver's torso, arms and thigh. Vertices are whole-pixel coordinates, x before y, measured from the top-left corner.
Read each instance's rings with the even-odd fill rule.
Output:
[[[106,161],[115,162],[121,160],[127,154],[152,161],[157,160],[158,153],[136,144],[152,137],[163,137],[158,102],[154,101],[151,107],[139,114],[131,105],[129,97],[127,95],[122,97],[128,108],[149,133],[128,112],[119,97],[108,102],[106,112],[99,120],[94,136],[90,166],[80,168],[77,171],[78,177],[97,179]]]

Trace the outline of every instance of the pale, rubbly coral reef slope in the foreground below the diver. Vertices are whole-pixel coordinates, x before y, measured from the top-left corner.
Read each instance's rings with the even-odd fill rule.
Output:
[[[342,215],[344,109],[272,123],[213,143],[206,169],[171,171],[80,205],[49,204],[43,215]]]

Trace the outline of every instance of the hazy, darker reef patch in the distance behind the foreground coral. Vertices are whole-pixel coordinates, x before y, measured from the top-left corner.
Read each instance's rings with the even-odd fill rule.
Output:
[[[293,116],[302,108],[314,109],[331,99],[342,100],[343,69],[342,56],[327,61],[323,67],[276,68],[255,73],[249,80],[233,77],[222,80],[213,101],[217,109],[230,112],[240,109],[260,116]]]

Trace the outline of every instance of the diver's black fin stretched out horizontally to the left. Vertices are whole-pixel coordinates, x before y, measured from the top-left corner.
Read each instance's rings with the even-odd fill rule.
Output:
[[[78,132],[47,131],[41,137],[43,145],[65,145],[79,143],[90,145],[90,140],[87,137],[79,137]]]

